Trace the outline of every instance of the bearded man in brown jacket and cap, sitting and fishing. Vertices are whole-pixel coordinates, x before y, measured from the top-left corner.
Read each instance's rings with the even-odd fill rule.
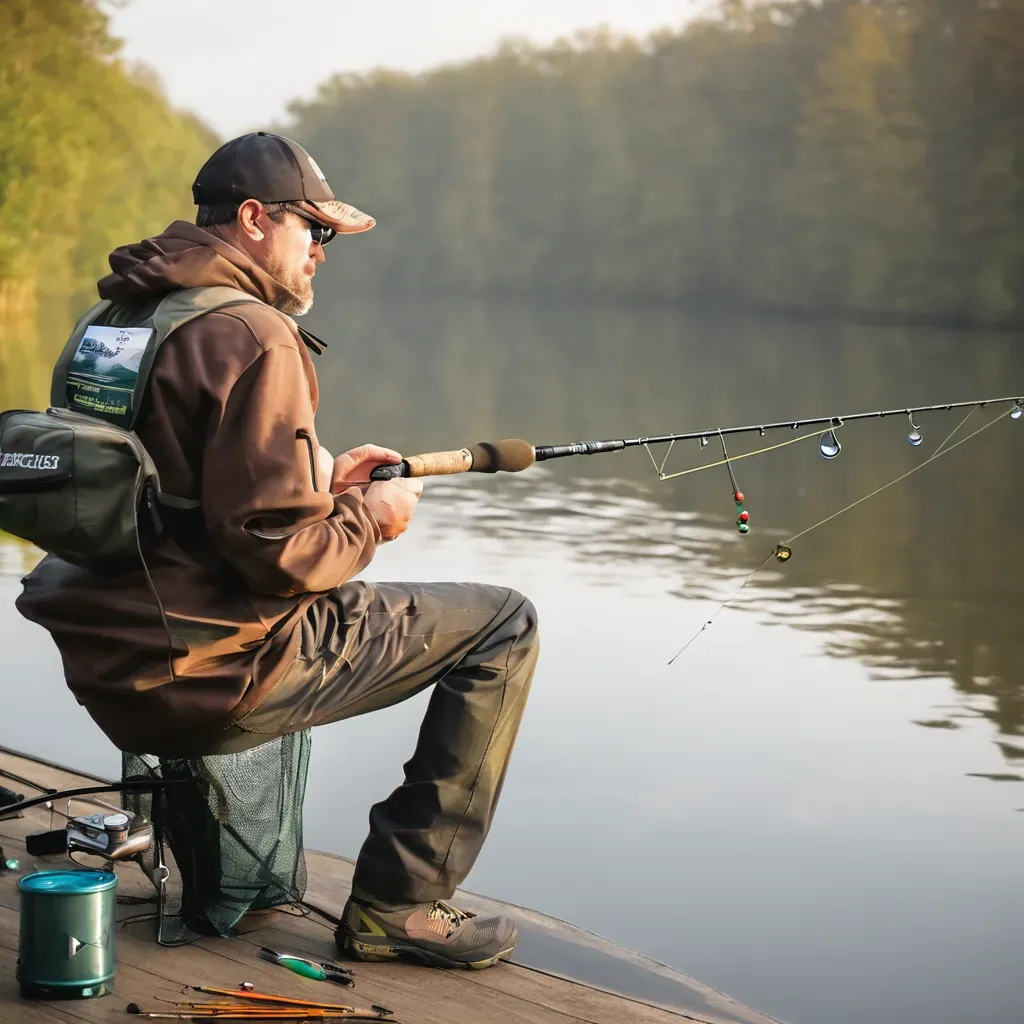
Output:
[[[162,487],[200,503],[164,509],[169,536],[146,552],[166,624],[143,571],[99,575],[53,557],[18,608],[50,631],[72,691],[127,751],[242,751],[432,686],[404,782],[371,810],[336,938],[364,959],[489,966],[511,954],[515,926],[445,901],[501,793],[536,613],[497,587],[352,581],[409,526],[421,484],[369,483],[375,465],[400,461],[389,449],[332,460],[319,447],[310,351],[322,345],[284,314],[311,306],[335,233],[374,220],[335,199],[301,146],[263,132],[221,146],[194,198],[196,225],[115,250],[98,285],[120,323],[175,289],[261,300],[171,334],[145,389],[137,433]]]

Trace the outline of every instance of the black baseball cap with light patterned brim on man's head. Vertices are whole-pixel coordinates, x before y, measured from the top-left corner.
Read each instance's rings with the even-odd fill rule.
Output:
[[[339,234],[369,231],[369,214],[335,199],[316,161],[284,135],[250,132],[225,142],[202,166],[193,183],[197,206],[244,203],[292,203]]]

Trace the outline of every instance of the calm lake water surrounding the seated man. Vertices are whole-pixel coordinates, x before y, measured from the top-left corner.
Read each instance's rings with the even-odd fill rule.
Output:
[[[309,327],[324,442],[407,453],[953,401],[1024,390],[1021,339],[698,319],[670,309],[340,298]],[[997,411],[972,415],[957,436]],[[659,482],[641,450],[429,481],[369,579],[479,580],[537,604],[543,653],[469,888],[594,929],[797,1024],[1024,1018],[1024,421],[920,465],[962,414],[849,424]],[[730,454],[788,439],[730,442]],[[954,438],[955,439],[955,438]],[[660,459],[665,452],[655,452]],[[677,445],[667,471],[720,458]],[[0,742],[118,758],[18,620],[0,546]],[[319,730],[307,843],[352,855],[425,695]]]

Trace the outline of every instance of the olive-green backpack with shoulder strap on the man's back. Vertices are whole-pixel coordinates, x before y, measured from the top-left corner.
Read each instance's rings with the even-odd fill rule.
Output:
[[[157,352],[197,316],[259,301],[216,287],[171,292],[148,308],[93,306],[57,360],[50,408],[0,414],[0,529],[88,568],[142,558],[141,509],[159,531],[161,506],[199,508],[164,493],[135,433]]]

